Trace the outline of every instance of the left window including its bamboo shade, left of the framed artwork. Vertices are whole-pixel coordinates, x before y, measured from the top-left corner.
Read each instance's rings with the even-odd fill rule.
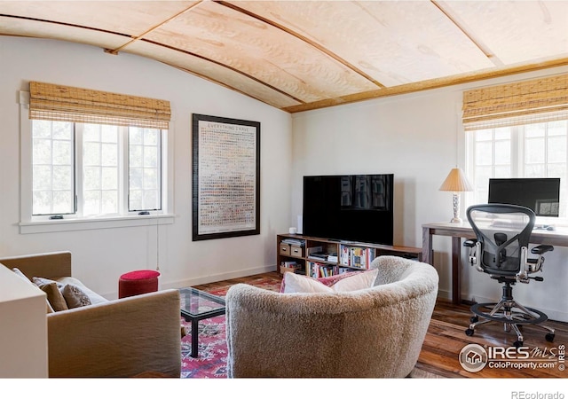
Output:
[[[170,103],[30,82],[20,232],[173,223]]]

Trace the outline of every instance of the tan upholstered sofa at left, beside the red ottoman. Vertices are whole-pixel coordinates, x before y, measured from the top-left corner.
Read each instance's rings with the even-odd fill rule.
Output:
[[[69,252],[5,258],[0,263],[21,270],[30,279],[71,276]],[[115,301],[98,298],[88,306],[46,314],[50,378],[150,374],[179,378],[177,290]]]

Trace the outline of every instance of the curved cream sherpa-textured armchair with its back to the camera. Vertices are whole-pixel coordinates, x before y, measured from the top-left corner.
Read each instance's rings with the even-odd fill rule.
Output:
[[[228,376],[404,378],[418,360],[438,295],[427,263],[380,256],[375,286],[343,293],[226,295]]]

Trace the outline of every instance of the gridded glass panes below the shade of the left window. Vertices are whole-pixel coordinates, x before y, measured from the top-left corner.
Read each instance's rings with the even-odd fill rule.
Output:
[[[32,121],[32,215],[161,210],[163,136],[159,129]]]

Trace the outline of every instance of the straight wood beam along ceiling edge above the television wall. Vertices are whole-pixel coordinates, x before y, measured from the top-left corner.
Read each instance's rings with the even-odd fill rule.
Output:
[[[326,108],[329,106],[350,104],[374,98],[397,96],[400,94],[414,93],[418,91],[455,86],[462,83],[484,81],[487,79],[509,76],[511,74],[523,74],[526,72],[540,71],[542,69],[548,69],[556,66],[568,66],[568,58],[553,59],[550,61],[545,61],[535,64],[526,64],[524,66],[513,66],[509,68],[496,69],[482,73],[458,74],[454,76],[448,76],[445,78],[430,79],[428,81],[423,81],[423,82],[401,84],[399,86],[393,86],[387,89],[365,91],[361,93],[351,94],[349,96],[343,96],[340,98],[329,98],[326,100],[316,101],[313,103],[303,104],[299,106],[288,106],[282,108],[282,111],[286,111],[288,113],[299,113],[303,111],[311,111],[319,108]]]

